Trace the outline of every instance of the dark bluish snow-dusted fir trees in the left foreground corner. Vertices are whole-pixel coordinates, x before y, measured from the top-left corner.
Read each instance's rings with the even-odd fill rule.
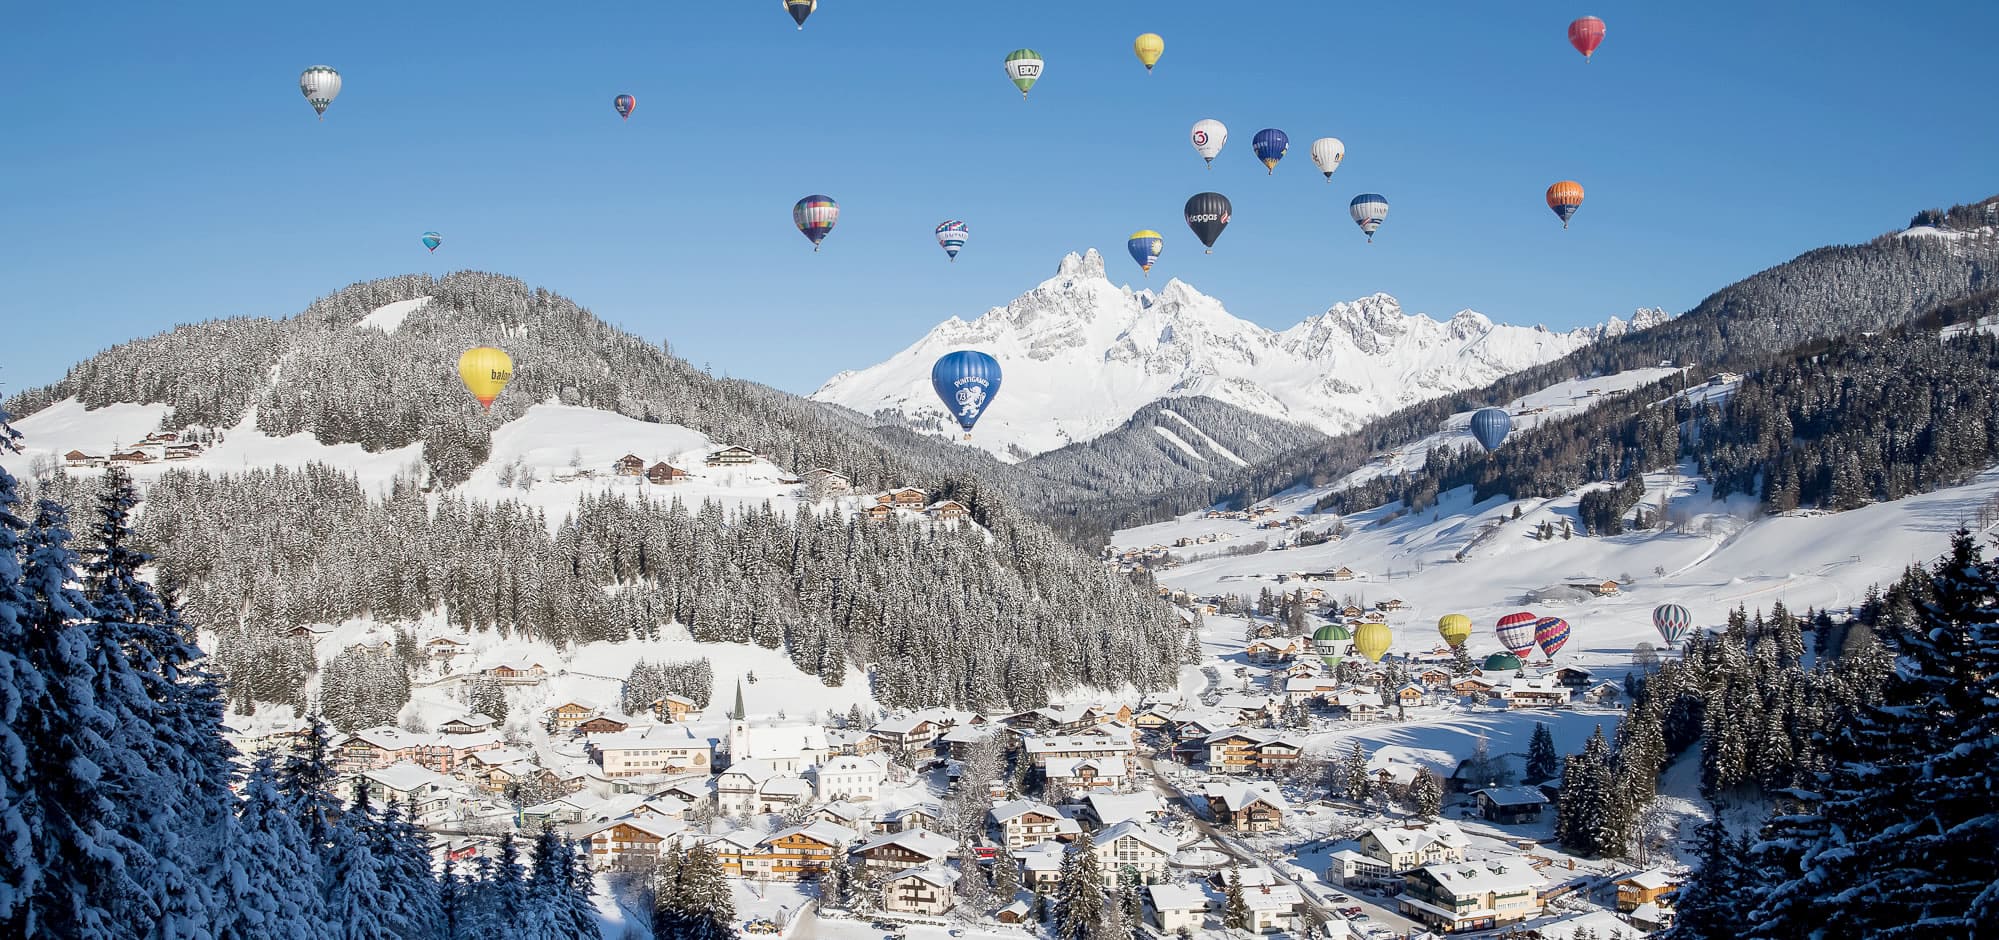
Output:
[[[134,504],[114,470],[80,552],[68,510],[24,516],[0,470],[0,934],[598,936],[574,842],[542,832],[530,866],[508,836],[440,874],[406,806],[334,794],[318,718],[244,776],[192,630],[140,578]]]

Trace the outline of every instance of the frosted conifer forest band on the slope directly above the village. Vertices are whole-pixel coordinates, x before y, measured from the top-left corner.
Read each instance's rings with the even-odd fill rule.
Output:
[[[68,476],[48,486],[76,488]],[[892,708],[1031,708],[1079,684],[1175,680],[1187,628],[1147,588],[972,484],[938,496],[966,502],[986,530],[612,494],[586,496],[552,530],[524,504],[414,480],[372,496],[326,466],[176,470],[148,490],[140,534],[186,620],[216,632],[234,702],[306,706],[310,646],[288,636],[296,624],[432,612],[558,646],[680,624],[704,642],[782,648],[826,684],[862,666]],[[322,686],[334,684],[344,724],[400,708],[374,674],[328,664]]]

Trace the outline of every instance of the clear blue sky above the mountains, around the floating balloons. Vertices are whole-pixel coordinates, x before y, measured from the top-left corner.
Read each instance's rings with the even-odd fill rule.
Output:
[[[1609,22],[1593,64],[1565,40]],[[1155,74],[1131,56],[1165,36]],[[478,268],[794,392],[1135,228],[1287,326],[1385,290],[1567,328],[1999,192],[1995,4],[204,0],[14,4],[0,386],[176,322]],[[1031,46],[1029,102],[1001,58]],[[298,72],[346,80],[326,122]],[[638,96],[620,122],[612,96]],[[1231,130],[1213,172],[1187,126]],[[1257,128],[1289,132],[1269,178]],[[1305,152],[1347,142],[1321,182]],[[1563,232],[1541,202],[1575,178]],[[1203,256],[1179,218],[1219,190]],[[1367,246],[1355,192],[1393,204]],[[792,202],[844,216],[812,254]],[[932,230],[972,242],[946,264]],[[440,230],[430,256],[418,236]]]

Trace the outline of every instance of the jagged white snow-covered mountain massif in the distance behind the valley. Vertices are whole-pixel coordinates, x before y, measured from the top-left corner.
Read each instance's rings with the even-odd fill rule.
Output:
[[[1471,310],[1439,322],[1373,294],[1275,332],[1181,280],[1157,292],[1111,284],[1091,248],[1065,256],[1053,278],[1011,304],[972,322],[954,316],[888,362],[830,378],[812,398],[946,434],[930,366],[946,352],[978,348],[1000,358],[1005,384],[974,442],[1009,458],[1095,438],[1177,396],[1337,434],[1665,320],[1653,308],[1551,332],[1493,324]]]

